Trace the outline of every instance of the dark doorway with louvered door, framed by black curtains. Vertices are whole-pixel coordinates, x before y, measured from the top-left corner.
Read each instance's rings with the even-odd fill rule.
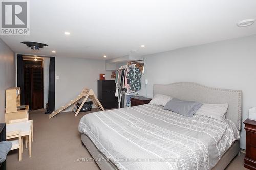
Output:
[[[31,110],[44,108],[44,69],[43,59],[23,58],[25,104]]]

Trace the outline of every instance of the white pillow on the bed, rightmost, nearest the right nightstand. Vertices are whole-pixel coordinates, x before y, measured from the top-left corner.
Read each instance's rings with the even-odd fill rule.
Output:
[[[224,120],[226,118],[228,104],[207,104],[204,103],[196,114],[214,118],[217,120]]]

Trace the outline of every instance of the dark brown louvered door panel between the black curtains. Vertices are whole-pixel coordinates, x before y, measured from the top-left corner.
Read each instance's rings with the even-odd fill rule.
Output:
[[[44,107],[44,86],[42,68],[31,68],[32,110]]]

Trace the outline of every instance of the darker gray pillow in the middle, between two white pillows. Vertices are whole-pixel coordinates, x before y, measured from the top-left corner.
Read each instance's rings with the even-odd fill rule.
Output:
[[[194,101],[183,101],[177,98],[171,99],[163,109],[170,110],[183,116],[192,117],[202,106],[202,103]]]

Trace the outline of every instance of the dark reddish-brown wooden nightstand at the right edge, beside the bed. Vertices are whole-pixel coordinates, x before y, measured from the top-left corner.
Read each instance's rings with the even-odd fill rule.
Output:
[[[246,119],[246,154],[244,158],[244,167],[256,169],[256,121]]]

